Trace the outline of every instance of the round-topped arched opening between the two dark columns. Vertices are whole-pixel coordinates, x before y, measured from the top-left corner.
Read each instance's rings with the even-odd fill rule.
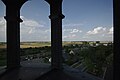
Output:
[[[22,6],[21,65],[51,63],[51,26],[48,16],[49,7],[44,0],[28,1]]]

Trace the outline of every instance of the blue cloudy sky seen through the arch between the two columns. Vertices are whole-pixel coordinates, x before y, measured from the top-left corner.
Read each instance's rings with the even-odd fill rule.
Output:
[[[21,14],[21,18],[23,19],[23,23],[21,23],[21,27],[20,27],[21,42],[22,41],[24,42],[24,40],[27,41],[39,41],[39,40],[44,41],[45,39],[50,40],[50,37],[48,36],[47,38],[45,37],[46,35],[50,34],[49,31],[50,23],[48,19],[49,6],[46,4],[44,0],[27,1],[21,7],[20,14]],[[43,34],[43,32],[45,31],[46,33]]]

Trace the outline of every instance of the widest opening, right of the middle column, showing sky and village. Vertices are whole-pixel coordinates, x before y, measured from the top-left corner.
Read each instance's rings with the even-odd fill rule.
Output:
[[[63,2],[64,63],[103,77],[113,60],[113,1]]]

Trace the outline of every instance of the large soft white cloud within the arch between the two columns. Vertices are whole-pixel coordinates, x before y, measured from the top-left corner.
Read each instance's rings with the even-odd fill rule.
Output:
[[[45,23],[39,23],[32,19],[27,19],[24,16],[20,16],[23,22],[20,24],[21,28],[21,35],[24,36],[25,34],[35,34],[41,31],[41,27],[45,26]]]

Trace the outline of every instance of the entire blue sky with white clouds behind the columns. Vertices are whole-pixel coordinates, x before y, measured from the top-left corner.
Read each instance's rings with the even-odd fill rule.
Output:
[[[113,0],[63,0],[63,41],[113,41]],[[6,41],[5,5],[0,0],[0,42]],[[50,6],[27,1],[20,10],[20,41],[51,41]],[[12,28],[12,27],[11,27]]]

